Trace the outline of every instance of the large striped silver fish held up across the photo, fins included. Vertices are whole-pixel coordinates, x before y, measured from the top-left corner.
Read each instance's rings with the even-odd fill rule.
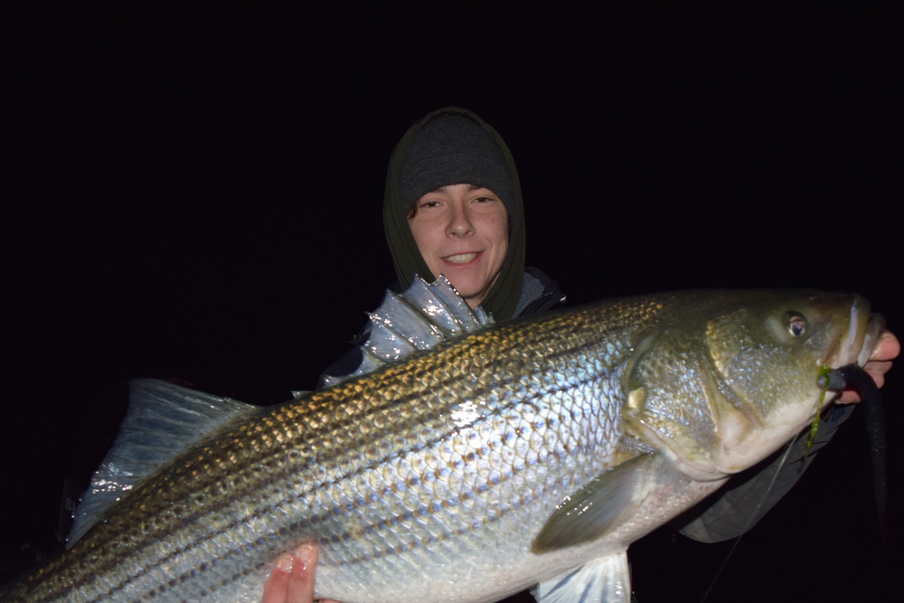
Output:
[[[491,322],[419,281],[372,315],[366,373],[325,391],[259,409],[133,382],[69,550],[0,598],[257,603],[316,542],[317,597],[347,603],[623,602],[628,545],[795,437],[820,368],[882,330],[815,291]]]

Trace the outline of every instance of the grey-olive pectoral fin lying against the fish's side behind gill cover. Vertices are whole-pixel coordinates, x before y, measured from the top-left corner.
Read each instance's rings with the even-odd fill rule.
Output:
[[[664,465],[662,457],[652,454],[607,469],[557,505],[531,551],[539,554],[595,541],[625,523],[667,469]]]

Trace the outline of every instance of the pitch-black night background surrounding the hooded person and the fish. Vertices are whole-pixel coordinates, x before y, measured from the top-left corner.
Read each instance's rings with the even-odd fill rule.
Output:
[[[388,11],[5,20],[0,579],[56,546],[63,485],[87,484],[130,379],[259,404],[315,386],[395,278],[386,165],[436,108],[511,147],[528,265],[570,306],[814,287],[862,293],[904,333],[891,15]],[[892,548],[857,410],[708,600],[897,583],[901,372],[883,390]],[[699,601],[729,548],[654,532],[632,549],[637,596]]]

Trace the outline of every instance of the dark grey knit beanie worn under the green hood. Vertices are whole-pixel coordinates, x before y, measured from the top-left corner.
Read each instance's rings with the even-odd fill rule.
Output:
[[[450,184],[488,188],[513,213],[514,184],[502,149],[483,127],[462,115],[433,119],[411,141],[401,167],[405,212],[425,194]]]

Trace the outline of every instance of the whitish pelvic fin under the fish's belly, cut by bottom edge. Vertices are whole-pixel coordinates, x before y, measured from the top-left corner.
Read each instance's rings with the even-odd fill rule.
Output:
[[[538,603],[629,603],[631,574],[627,552],[621,551],[585,563],[532,590]]]

